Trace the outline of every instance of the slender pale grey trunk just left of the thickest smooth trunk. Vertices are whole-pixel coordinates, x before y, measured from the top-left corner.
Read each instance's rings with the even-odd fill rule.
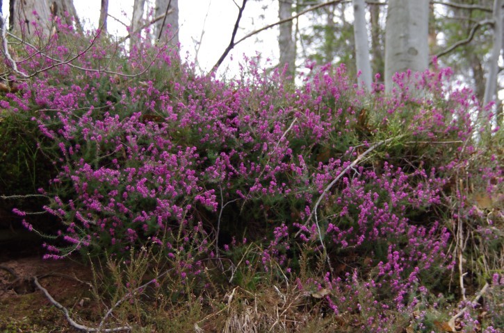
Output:
[[[373,79],[371,74],[371,61],[369,60],[368,30],[366,28],[364,0],[353,0],[353,6],[355,56],[357,58],[357,72],[361,72],[358,84],[359,87],[364,87],[368,91],[371,91]]]

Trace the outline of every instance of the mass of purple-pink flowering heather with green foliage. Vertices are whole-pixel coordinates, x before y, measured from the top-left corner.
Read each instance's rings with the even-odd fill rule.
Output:
[[[379,85],[357,89],[343,65],[311,64],[292,87],[249,59],[224,82],[163,46],[110,51],[68,27],[45,54],[71,58],[68,40],[86,45],[71,63],[27,47],[20,69],[39,74],[3,105],[36,112],[43,148],[58,156],[58,176],[40,191],[67,246],[47,244],[46,258],[149,246],[185,277],[217,244],[228,250],[245,236],[263,244],[264,270],[276,262],[295,276],[302,244],[323,253],[330,273],[300,288],[330,289],[335,314],[373,309],[366,327],[380,331],[393,325],[389,309],[412,311],[427,284],[443,283],[457,219],[502,240],[498,207],[485,224],[467,196],[474,186],[501,193],[501,157],[478,146],[482,110],[468,90],[444,87],[449,69],[421,74],[420,97],[407,91],[409,73],[385,96]]]

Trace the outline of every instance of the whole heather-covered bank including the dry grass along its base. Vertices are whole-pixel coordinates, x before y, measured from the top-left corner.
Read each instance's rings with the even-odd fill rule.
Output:
[[[503,135],[449,69],[386,95],[333,65],[219,80],[63,25],[16,51],[3,198],[34,231],[16,195],[41,200],[47,259],[107,263],[99,329],[504,328]]]

